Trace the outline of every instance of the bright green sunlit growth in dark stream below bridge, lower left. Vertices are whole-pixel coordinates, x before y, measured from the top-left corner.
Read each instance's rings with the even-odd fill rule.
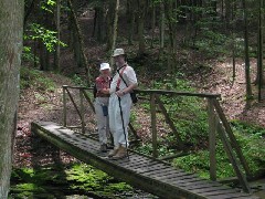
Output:
[[[91,192],[100,198],[117,198],[116,195],[132,191],[129,185],[118,182],[102,170],[85,164],[13,169],[11,182],[14,184],[11,186],[11,196],[14,198],[32,197],[33,192],[35,197],[45,193],[42,198],[54,198],[54,188],[60,187],[67,187],[70,192]]]

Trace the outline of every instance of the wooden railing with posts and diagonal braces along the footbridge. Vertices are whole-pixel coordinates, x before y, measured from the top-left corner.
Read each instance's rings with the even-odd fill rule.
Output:
[[[80,107],[75,102],[74,97],[70,90],[77,90],[80,95]],[[84,100],[89,104],[95,113],[94,104],[92,102],[91,96],[87,94],[88,92],[93,92],[92,87],[82,87],[82,86],[63,86],[63,125],[67,127],[66,124],[66,96],[73,103],[82,125],[82,132],[85,133],[85,122],[84,122]],[[136,90],[136,93],[140,95],[145,95],[145,100],[148,100],[150,103],[150,115],[151,115],[151,138],[152,138],[152,157],[158,158],[158,133],[157,133],[157,106],[159,111],[163,114],[165,119],[169,127],[171,128],[172,133],[178,139],[178,145],[180,149],[183,149],[183,140],[181,139],[173,121],[170,118],[170,115],[167,112],[160,96],[193,96],[193,97],[201,97],[205,98],[208,102],[208,123],[209,123],[209,151],[210,151],[210,179],[216,180],[216,133],[221,138],[223,144],[224,150],[233,166],[233,169],[246,192],[251,192],[250,186],[246,180],[246,176],[251,176],[251,171],[248,165],[242,154],[242,150],[237,144],[237,140],[232,132],[230,123],[227,122],[222,107],[219,103],[219,98],[221,97],[220,94],[211,94],[211,93],[191,93],[191,92],[177,92],[177,91],[163,91],[163,90]],[[137,132],[129,124],[129,127],[136,138],[138,139]],[[242,167],[244,171],[242,171]],[[244,174],[245,172],[245,174]]]

